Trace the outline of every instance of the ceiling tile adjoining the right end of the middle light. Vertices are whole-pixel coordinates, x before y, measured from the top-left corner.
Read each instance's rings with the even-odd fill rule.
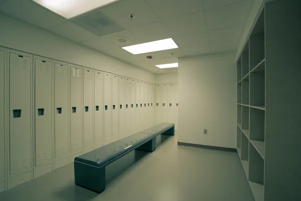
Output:
[[[190,33],[174,37],[175,42],[181,48],[196,47],[209,44],[207,32]]]

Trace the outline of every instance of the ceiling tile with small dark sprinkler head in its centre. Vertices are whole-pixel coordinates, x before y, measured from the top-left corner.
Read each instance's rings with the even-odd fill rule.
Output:
[[[102,8],[101,11],[125,29],[159,22],[152,9],[141,0],[122,0]],[[130,14],[135,17],[130,19]]]

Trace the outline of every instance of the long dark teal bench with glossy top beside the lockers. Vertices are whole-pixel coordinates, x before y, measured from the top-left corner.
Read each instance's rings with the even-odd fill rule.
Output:
[[[155,151],[156,137],[160,134],[175,135],[175,124],[158,124],[74,158],[75,184],[102,192],[106,166],[135,149]]]

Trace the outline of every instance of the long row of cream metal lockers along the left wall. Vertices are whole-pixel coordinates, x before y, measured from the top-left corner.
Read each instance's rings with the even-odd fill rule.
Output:
[[[155,84],[5,49],[0,70],[0,192],[155,124]]]

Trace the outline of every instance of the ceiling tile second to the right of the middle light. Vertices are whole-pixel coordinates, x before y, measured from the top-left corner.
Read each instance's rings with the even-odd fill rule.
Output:
[[[244,26],[230,27],[209,31],[209,42],[219,43],[224,41],[238,41],[240,40]]]

